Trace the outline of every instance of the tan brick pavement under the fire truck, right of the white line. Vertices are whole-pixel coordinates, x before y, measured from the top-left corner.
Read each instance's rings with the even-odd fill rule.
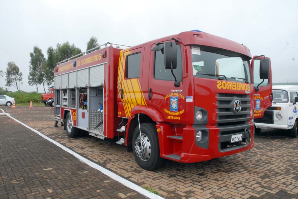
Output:
[[[2,108],[2,107],[1,107]],[[55,128],[52,107],[3,108],[5,112],[114,173],[149,186],[165,198],[298,198],[298,138],[266,130],[252,150],[206,162],[166,160],[157,171],[141,169],[132,152],[113,140],[68,138]]]

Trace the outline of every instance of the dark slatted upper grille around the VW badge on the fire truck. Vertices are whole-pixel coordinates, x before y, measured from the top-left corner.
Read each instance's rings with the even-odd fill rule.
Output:
[[[239,98],[242,104],[238,115],[232,112],[233,101]],[[247,122],[250,114],[250,97],[244,94],[218,93],[217,94],[217,123],[229,125],[231,122]]]

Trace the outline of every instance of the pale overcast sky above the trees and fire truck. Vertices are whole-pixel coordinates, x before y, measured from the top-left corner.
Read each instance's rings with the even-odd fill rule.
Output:
[[[198,29],[271,58],[273,82],[298,82],[298,1],[0,1],[0,70],[14,61],[28,85],[29,53],[69,41],[136,45]],[[5,77],[0,77],[5,87]],[[16,90],[14,87],[9,90]],[[39,92],[42,92],[39,87]]]

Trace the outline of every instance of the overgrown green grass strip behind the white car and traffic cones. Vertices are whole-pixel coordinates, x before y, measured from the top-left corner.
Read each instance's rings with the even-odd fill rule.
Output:
[[[24,103],[32,102],[40,102],[41,94],[37,92],[12,92],[12,91],[4,91],[1,92],[2,95],[10,96],[11,98],[15,98],[16,105],[21,105]],[[41,103],[39,103],[41,105]],[[29,106],[29,105],[28,105]]]

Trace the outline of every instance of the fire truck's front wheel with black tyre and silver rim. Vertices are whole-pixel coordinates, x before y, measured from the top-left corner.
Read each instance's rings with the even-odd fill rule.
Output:
[[[132,137],[132,149],[134,158],[140,167],[148,171],[158,169],[162,166],[164,159],[159,154],[159,141],[156,132],[156,126],[152,123],[143,123],[140,125],[143,140],[145,140],[145,150],[142,150],[140,141],[139,126],[134,129]],[[144,145],[142,145],[144,146]]]

